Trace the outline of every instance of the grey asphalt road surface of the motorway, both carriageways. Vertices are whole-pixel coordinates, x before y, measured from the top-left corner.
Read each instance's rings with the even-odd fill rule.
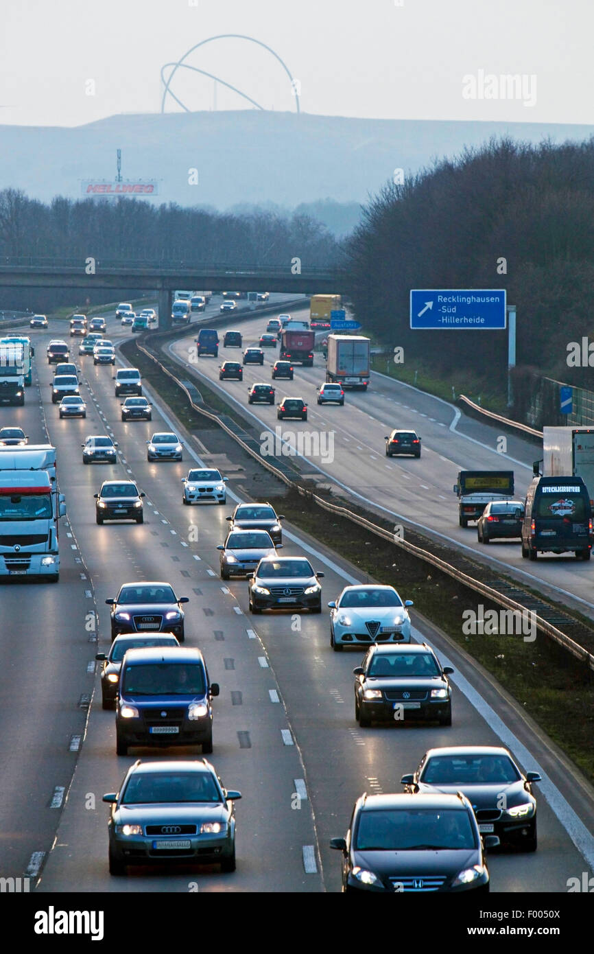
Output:
[[[264,325],[262,319],[246,323],[245,343],[255,342],[256,327],[259,333]],[[229,326],[234,326],[233,318]],[[113,339],[124,337],[113,315],[108,329]],[[228,507],[182,507],[180,479],[193,459],[200,460],[200,446],[154,395],[152,423],[123,424],[112,368],[95,367],[89,358],[77,360],[81,393],[89,404],[87,420],[59,421],[50,400],[52,368],[45,362],[44,347],[55,334],[50,327],[35,335],[36,380],[25,407],[1,411],[3,423],[23,426],[31,443],[49,440],[58,448],[60,490],[68,507],[60,529],[60,582],[2,587],[3,876],[20,876],[28,869],[31,875],[40,872],[42,892],[187,892],[195,887],[213,892],[337,891],[339,857],[330,850],[329,840],[344,834],[362,791],[400,791],[400,776],[413,771],[429,747],[501,740],[522,768],[541,771],[544,780],[537,786],[539,849],[530,855],[493,853],[492,891],[564,892],[568,878],[592,868],[594,804],[589,789],[526,723],[519,708],[415,611],[414,637],[429,641],[442,663],[456,671],[453,725],[358,728],[352,669],[361,653],[332,652],[326,613],[303,613],[297,624],[291,614],[252,617],[246,583],[223,583],[219,577],[215,548],[226,533],[225,517],[236,500],[243,499],[236,470],[229,467]],[[187,356],[187,347],[188,341],[182,340],[174,352]],[[230,350],[227,357],[236,354]],[[200,370],[212,378],[217,364],[201,360]],[[268,363],[263,375],[260,368],[246,367],[245,372],[243,384],[225,384],[242,405],[247,384],[270,376]],[[321,380],[319,368],[297,368],[288,391],[310,401],[310,427],[336,430],[332,467],[338,479],[364,497],[402,514],[420,513],[422,520],[415,517],[419,522],[431,522],[448,536],[471,542],[470,531],[460,530],[459,535],[454,527],[451,486],[456,466],[492,466],[495,451],[468,442],[462,452],[456,443],[453,460],[453,442],[459,439],[449,429],[449,408],[443,405],[441,413],[432,413],[434,421],[429,416],[420,419],[429,399],[409,392],[408,407],[393,406],[388,388],[395,385],[390,383],[382,391],[384,384],[374,381],[366,395],[349,395],[344,408],[317,409],[314,386]],[[280,396],[285,383],[277,384]],[[250,410],[274,429],[274,408]],[[363,416],[366,411],[375,422]],[[420,462],[383,458],[385,425],[399,412],[406,414],[404,425],[421,429],[423,421]],[[145,441],[154,431],[170,428],[186,440],[184,462],[149,464]],[[120,452],[116,467],[83,467],[80,445],[92,433],[113,434]],[[521,456],[521,447],[512,450],[513,444],[510,440],[510,453],[529,459]],[[216,466],[225,472],[224,460],[217,459]],[[527,483],[528,471],[521,472]],[[142,526],[95,524],[92,494],[107,476],[116,474],[132,477],[146,492]],[[308,555],[325,572],[324,601],[335,598],[345,584],[359,581],[356,568],[290,525],[283,542],[283,555]],[[505,558],[507,550],[508,545],[502,545]],[[546,562],[531,570],[546,572]],[[587,576],[587,565],[572,569],[574,578]],[[559,563],[550,570],[557,578],[562,571]],[[117,789],[136,757],[153,758],[154,751],[116,757],[114,716],[101,708],[93,658],[109,645],[105,599],[114,596],[122,582],[152,579],[169,580],[177,594],[190,597],[186,642],[201,648],[212,679],[221,686],[211,759],[223,783],[242,793],[236,805],[234,874],[221,875],[216,868],[138,869],[128,878],[114,879],[108,873],[107,808],[101,796]],[[584,584],[579,595],[585,598],[585,593]],[[194,756],[195,751],[170,752],[171,757],[182,754]]]

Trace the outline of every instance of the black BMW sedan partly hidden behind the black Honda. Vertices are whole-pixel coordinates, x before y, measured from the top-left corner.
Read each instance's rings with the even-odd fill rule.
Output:
[[[502,844],[536,851],[538,772],[522,772],[507,749],[494,745],[459,745],[429,749],[417,771],[400,779],[411,794],[461,791],[472,804],[481,834],[497,835]]]

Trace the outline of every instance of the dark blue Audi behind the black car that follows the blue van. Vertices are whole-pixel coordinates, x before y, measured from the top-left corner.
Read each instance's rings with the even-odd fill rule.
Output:
[[[182,603],[187,596],[176,596],[169,583],[125,583],[115,599],[106,599],[112,607],[112,639],[119,633],[174,633],[184,641]]]

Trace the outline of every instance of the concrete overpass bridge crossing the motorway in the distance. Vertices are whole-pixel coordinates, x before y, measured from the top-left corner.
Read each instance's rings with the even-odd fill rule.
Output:
[[[112,288],[154,293],[161,326],[171,321],[172,296],[177,288],[212,291],[283,292],[307,295],[348,293],[347,273],[339,268],[302,265],[229,265],[192,261],[123,261],[98,258],[0,259],[0,288]]]

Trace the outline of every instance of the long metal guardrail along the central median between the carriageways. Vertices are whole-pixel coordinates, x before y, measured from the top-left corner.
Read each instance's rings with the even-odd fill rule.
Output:
[[[258,462],[258,464],[260,464],[262,467],[266,467],[270,473],[274,474],[278,480],[281,480],[287,487],[297,490],[300,496],[314,501],[318,507],[321,507],[327,512],[336,514],[337,516],[345,517],[347,520],[358,524],[359,527],[367,529],[376,536],[381,537],[381,539],[392,542],[396,547],[399,547],[400,550],[404,550],[404,552],[416,556],[425,563],[430,564],[430,566],[435,567],[437,570],[441,570],[441,572],[446,573],[448,576],[452,577],[452,579],[456,580],[457,583],[461,583],[469,590],[479,593],[492,603],[499,604],[507,610],[525,612],[526,608],[522,606],[521,603],[517,603],[515,600],[509,599],[509,597],[504,596],[502,593],[496,590],[493,590],[491,587],[481,583],[479,580],[475,580],[473,577],[468,576],[461,570],[457,570],[455,567],[450,566],[449,563],[446,563],[445,560],[441,560],[440,557],[435,556],[435,554],[430,553],[428,550],[422,550],[420,547],[416,547],[407,540],[395,538],[395,536],[390,533],[389,530],[378,527],[377,524],[373,524],[365,517],[359,516],[358,513],[354,513],[352,510],[349,510],[345,507],[339,507],[337,504],[332,504],[330,501],[324,500],[323,497],[317,496],[317,494],[312,490],[308,490],[306,487],[301,487],[298,485],[294,480],[288,477],[287,474],[283,473],[281,470],[271,464],[270,461],[262,457],[261,454],[254,450],[253,447],[249,446],[249,444],[242,440],[242,438],[239,437],[231,427],[221,421],[218,415],[213,414],[211,411],[207,411],[205,407],[195,404],[195,402],[192,400],[192,395],[185,384],[183,384],[179,378],[176,378],[169,368],[165,367],[165,365],[161,363],[158,358],[156,358],[154,354],[152,354],[146,347],[144,347],[144,345],[142,345],[140,342],[136,342],[136,346],[185,393],[188,401],[196,413],[202,414],[204,417],[220,426],[230,437],[234,439],[234,441],[236,441],[237,444],[239,444],[248,454],[250,454],[250,456]],[[539,616],[538,614],[535,615],[536,625],[541,633],[547,635],[550,639],[561,646],[563,650],[571,653],[571,655],[573,655],[576,659],[579,659],[581,662],[586,663],[587,666],[594,671],[594,655],[592,653],[588,653],[583,646],[580,646],[575,642],[575,640],[571,639],[565,633],[562,633],[561,630],[547,622],[542,616]]]

